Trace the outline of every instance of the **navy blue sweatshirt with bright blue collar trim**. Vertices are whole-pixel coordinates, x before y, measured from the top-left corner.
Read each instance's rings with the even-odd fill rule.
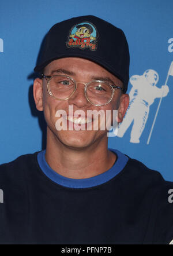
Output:
[[[45,151],[1,164],[0,243],[170,243],[173,182],[110,150],[117,156],[114,166],[81,180],[52,170]]]

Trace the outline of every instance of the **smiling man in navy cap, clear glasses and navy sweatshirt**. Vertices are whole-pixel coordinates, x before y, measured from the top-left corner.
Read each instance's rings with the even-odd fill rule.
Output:
[[[81,25],[81,38],[92,27],[89,38],[71,38]],[[108,149],[106,122],[87,115],[111,111],[112,124],[117,109],[116,121],[123,120],[129,49],[122,30],[95,16],[55,24],[35,71],[42,74],[33,96],[47,122],[46,151],[0,166],[1,243],[170,243],[172,182]]]

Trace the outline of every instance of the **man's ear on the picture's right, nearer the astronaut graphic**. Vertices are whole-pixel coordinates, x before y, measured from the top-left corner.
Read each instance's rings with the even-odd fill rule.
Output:
[[[118,123],[122,122],[128,107],[129,107],[129,94],[125,93],[121,95],[119,100]]]

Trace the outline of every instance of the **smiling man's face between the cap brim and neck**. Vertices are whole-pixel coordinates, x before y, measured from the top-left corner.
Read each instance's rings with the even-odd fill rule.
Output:
[[[106,113],[107,109],[110,109],[111,111],[113,111],[113,109],[119,109],[118,122],[122,122],[122,118],[125,115],[126,108],[129,104],[129,96],[127,94],[122,94],[121,90],[117,89],[109,104],[96,107],[86,100],[84,93],[85,85],[83,83],[88,83],[93,80],[102,80],[120,87],[123,87],[123,83],[100,65],[76,57],[61,58],[52,61],[44,69],[44,75],[67,75],[78,82],[77,90],[74,92],[73,96],[68,100],[61,101],[51,97],[47,92],[47,81],[45,78],[43,81],[36,79],[35,84],[38,81],[39,83],[43,83],[43,93],[41,93],[40,89],[37,89],[39,87],[38,85],[34,85],[34,94],[37,109],[44,111],[44,117],[47,122],[47,136],[50,136],[53,141],[58,141],[58,143],[61,142],[67,147],[76,149],[89,147],[96,141],[107,141],[107,130],[100,130],[100,125],[98,126],[98,130],[68,130],[69,123],[67,122],[67,130],[57,130],[55,123],[58,118],[55,114],[58,110],[62,109],[66,111],[68,117],[69,105],[73,105],[73,112],[76,110],[84,111],[85,116],[87,116],[87,110],[93,111],[95,109],[96,111],[99,111],[100,109],[103,109]],[[39,100],[37,101],[36,98],[39,98]],[[100,118],[98,122],[100,123]]]

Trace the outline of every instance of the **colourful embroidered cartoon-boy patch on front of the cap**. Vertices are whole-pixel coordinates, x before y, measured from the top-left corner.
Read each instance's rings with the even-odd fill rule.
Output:
[[[90,50],[97,49],[97,31],[92,23],[82,22],[75,25],[71,30],[66,43],[67,47],[79,47]]]

